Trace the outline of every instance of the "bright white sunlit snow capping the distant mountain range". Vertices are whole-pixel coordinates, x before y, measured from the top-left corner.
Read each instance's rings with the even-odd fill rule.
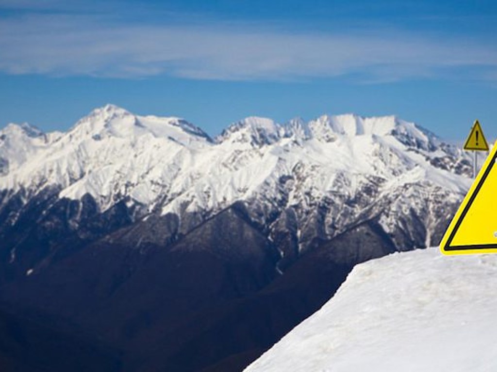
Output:
[[[334,198],[344,188],[362,193],[371,183],[392,194],[425,181],[457,199],[471,180],[431,164],[452,152],[467,156],[449,150],[433,134],[393,116],[325,115],[288,124],[251,117],[213,142],[182,119],[135,116],[107,105],[66,133],[45,134],[27,124],[1,130],[0,189],[33,193],[56,185],[61,197],[79,200],[89,193],[102,211],[129,196],[163,214],[276,200],[275,190],[288,177],[288,205],[305,207],[309,198]]]

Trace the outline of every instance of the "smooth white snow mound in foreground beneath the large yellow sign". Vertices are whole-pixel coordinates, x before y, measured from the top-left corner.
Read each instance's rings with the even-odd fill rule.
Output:
[[[369,261],[246,371],[497,371],[496,293],[497,255]]]

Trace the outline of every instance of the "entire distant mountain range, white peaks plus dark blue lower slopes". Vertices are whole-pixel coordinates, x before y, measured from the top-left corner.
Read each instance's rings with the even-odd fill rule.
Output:
[[[69,319],[140,371],[245,367],[355,264],[438,244],[471,173],[395,116],[251,117],[215,138],[113,105],[67,132],[9,124],[0,303]]]

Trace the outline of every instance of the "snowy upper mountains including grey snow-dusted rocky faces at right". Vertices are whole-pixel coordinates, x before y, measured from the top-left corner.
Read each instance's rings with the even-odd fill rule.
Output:
[[[72,200],[90,195],[101,212],[125,201],[135,219],[176,214],[184,233],[241,200],[272,239],[292,216],[299,250],[373,218],[400,247],[433,244],[439,217],[471,183],[461,150],[393,116],[252,117],[212,141],[182,119],[107,105],[66,133],[2,133],[0,205],[51,187]],[[415,231],[400,214],[419,222]]]

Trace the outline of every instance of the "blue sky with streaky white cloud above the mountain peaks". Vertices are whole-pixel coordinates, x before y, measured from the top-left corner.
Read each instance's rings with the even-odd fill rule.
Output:
[[[114,103],[211,135],[356,113],[494,140],[496,99],[495,1],[0,0],[0,126]]]

